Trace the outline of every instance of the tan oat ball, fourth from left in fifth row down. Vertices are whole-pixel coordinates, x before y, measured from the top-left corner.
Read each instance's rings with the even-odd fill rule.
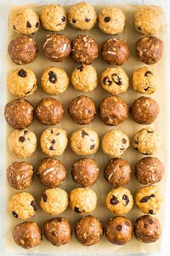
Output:
[[[118,129],[111,129],[102,138],[102,150],[111,158],[120,158],[129,148],[130,140],[128,135]]]

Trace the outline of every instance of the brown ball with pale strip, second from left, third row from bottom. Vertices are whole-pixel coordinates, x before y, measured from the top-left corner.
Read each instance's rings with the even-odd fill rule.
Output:
[[[60,160],[44,158],[37,167],[37,176],[41,184],[55,188],[60,186],[66,179],[66,167]]]

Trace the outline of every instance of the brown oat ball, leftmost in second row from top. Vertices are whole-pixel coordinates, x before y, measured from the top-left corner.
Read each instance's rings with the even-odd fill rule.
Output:
[[[37,57],[37,43],[29,35],[19,35],[8,46],[8,54],[17,65],[32,62]]]

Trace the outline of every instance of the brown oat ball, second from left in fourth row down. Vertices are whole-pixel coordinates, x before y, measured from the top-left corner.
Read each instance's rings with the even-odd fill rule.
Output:
[[[42,98],[37,103],[36,116],[38,121],[46,125],[58,124],[63,119],[63,106],[56,98]]]

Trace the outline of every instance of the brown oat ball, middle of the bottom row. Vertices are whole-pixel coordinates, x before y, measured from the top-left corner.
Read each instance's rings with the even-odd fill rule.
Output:
[[[84,246],[97,244],[103,235],[102,223],[91,215],[79,219],[74,229],[77,241]]]

